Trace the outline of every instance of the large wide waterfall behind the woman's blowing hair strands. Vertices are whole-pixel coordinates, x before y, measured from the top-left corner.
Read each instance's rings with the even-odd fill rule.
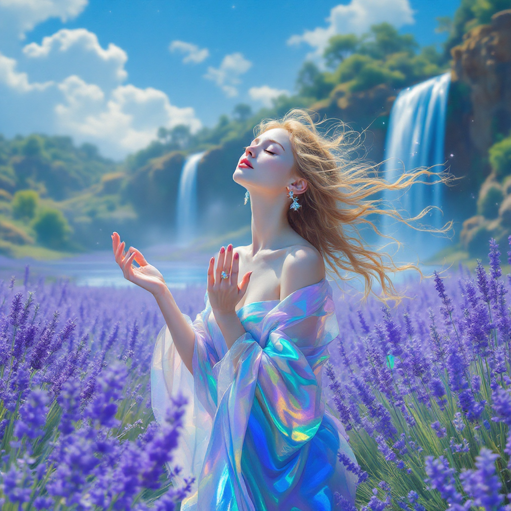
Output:
[[[436,76],[413,87],[402,90],[390,112],[385,144],[384,177],[394,181],[404,170],[431,167],[445,163],[444,137],[447,96],[451,73]],[[442,167],[432,169],[435,172]],[[426,180],[426,179],[422,179]],[[433,178],[437,181],[437,178]],[[433,182],[433,181],[430,181]],[[414,184],[406,192],[387,192],[386,201],[404,215],[417,215],[427,206],[442,208],[444,184]],[[399,200],[399,203],[396,203]],[[433,209],[421,222],[433,227],[445,223],[442,213]],[[446,239],[431,233],[398,225],[391,219],[383,221],[384,234],[394,236],[412,248],[422,261],[431,257],[446,244]]]

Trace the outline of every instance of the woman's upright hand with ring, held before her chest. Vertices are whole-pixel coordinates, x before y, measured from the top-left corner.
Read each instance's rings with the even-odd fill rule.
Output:
[[[245,294],[252,273],[251,271],[245,273],[238,286],[239,267],[240,256],[236,252],[233,257],[233,245],[230,244],[227,250],[222,247],[218,252],[216,271],[214,270],[215,258],[210,259],[210,265],[207,268],[207,295],[215,315],[236,314],[236,304]],[[222,272],[228,277],[222,278]]]

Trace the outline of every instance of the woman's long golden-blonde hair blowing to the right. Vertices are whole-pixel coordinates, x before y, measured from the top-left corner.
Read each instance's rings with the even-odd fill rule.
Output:
[[[387,252],[372,250],[362,239],[360,228],[369,226],[384,238],[371,216],[384,215],[418,230],[428,230],[445,235],[452,222],[434,229],[419,224],[418,220],[431,211],[426,207],[418,215],[404,217],[395,207],[385,204],[385,191],[406,190],[414,183],[431,184],[436,181],[449,184],[451,176],[445,171],[434,172],[431,168],[419,168],[403,172],[394,182],[379,175],[379,165],[371,164],[359,151],[362,148],[361,134],[346,129],[343,123],[330,124],[324,134],[318,128],[329,120],[314,122],[311,115],[302,109],[290,110],[282,119],[264,119],[254,128],[255,136],[273,128],[284,128],[289,132],[295,160],[295,173],[306,179],[308,188],[298,196],[301,208],[288,210],[291,227],[309,241],[323,256],[341,280],[347,280],[341,272],[355,272],[363,277],[364,297],[373,290],[374,279],[382,288],[384,300],[400,301],[402,296],[389,277],[389,273],[414,269],[423,276],[416,264],[396,264]],[[341,129],[339,129],[341,128]],[[355,155],[355,156],[354,156]],[[398,242],[399,245],[399,242]]]

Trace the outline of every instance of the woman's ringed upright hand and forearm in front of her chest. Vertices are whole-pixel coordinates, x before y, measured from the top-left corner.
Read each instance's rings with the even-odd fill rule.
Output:
[[[230,244],[227,246],[227,250],[224,247],[220,249],[216,271],[214,271],[214,266],[215,258],[212,257],[207,269],[207,294],[227,349],[230,350],[236,339],[245,333],[235,307],[247,290],[252,272],[245,273],[240,286],[238,286],[240,257],[238,252],[233,257],[233,245]],[[229,278],[221,278],[222,271],[230,273]]]

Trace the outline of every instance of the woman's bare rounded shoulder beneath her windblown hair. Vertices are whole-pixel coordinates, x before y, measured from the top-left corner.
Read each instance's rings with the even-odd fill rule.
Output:
[[[297,289],[321,281],[325,276],[324,259],[312,245],[294,245],[284,260],[281,274],[281,300]]]

